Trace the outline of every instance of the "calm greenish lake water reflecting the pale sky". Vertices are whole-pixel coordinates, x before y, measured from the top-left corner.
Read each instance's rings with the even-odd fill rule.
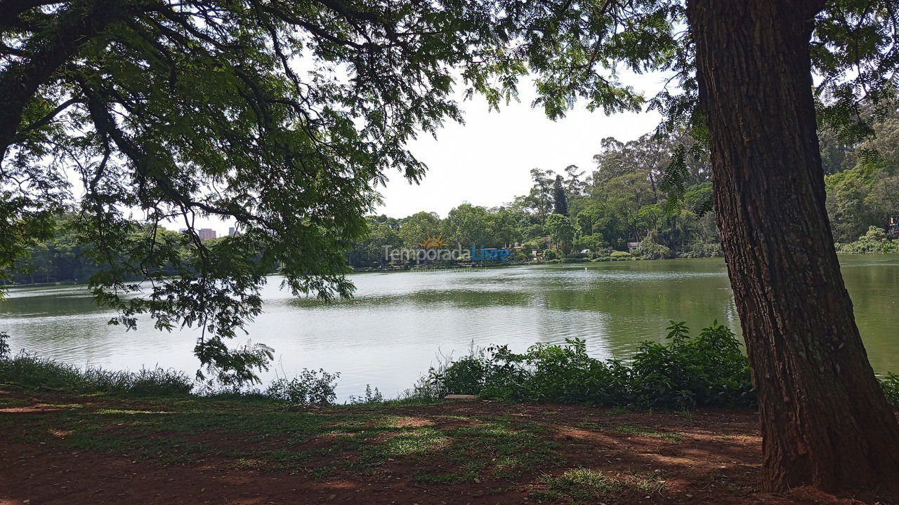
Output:
[[[844,256],[843,277],[878,371],[899,371],[899,256]],[[580,337],[592,356],[627,358],[643,340],[663,340],[670,319],[694,330],[717,319],[739,332],[725,264],[720,259],[617,261],[352,277],[350,301],[297,300],[273,278],[265,313],[247,337],[271,345],[276,363],[263,378],[302,368],[342,373],[338,395],[366,384],[402,391],[438,356],[509,343]],[[13,350],[77,365],[136,369],[159,365],[192,372],[192,330],[136,332],[109,326],[84,288],[15,288],[0,302],[0,330]]]

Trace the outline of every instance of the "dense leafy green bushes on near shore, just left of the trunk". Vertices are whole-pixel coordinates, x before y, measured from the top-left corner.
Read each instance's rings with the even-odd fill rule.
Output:
[[[507,346],[458,359],[432,370],[442,394],[480,394],[502,400],[635,404],[686,409],[696,405],[753,405],[749,362],[733,332],[717,322],[690,338],[673,322],[668,342],[644,342],[631,363],[587,355],[586,342],[539,343],[516,354]]]

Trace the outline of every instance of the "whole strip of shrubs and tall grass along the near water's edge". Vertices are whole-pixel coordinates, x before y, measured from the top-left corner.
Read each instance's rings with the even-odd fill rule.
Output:
[[[628,359],[588,356],[586,342],[538,343],[521,353],[508,346],[472,349],[466,356],[431,368],[397,398],[377,387],[348,403],[432,403],[448,394],[525,403],[574,403],[602,407],[690,410],[698,407],[754,407],[755,390],[742,342],[712,323],[696,336],[672,321],[663,343],[644,341]],[[137,372],[78,368],[26,353],[11,356],[0,332],[0,385],[24,391],[68,394],[177,396],[192,394],[288,404],[334,404],[340,373],[304,369],[278,377],[263,388],[196,380],[174,369]],[[887,399],[899,409],[899,375],[878,377]]]

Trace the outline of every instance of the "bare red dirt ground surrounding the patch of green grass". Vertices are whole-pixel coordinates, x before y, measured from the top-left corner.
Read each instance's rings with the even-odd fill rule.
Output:
[[[6,398],[11,395],[4,394]],[[49,406],[46,398],[21,395],[28,403],[0,409],[0,505],[43,504],[241,504],[364,503],[364,504],[496,504],[536,503],[532,494],[541,475],[566,468],[590,467],[603,472],[661,471],[660,492],[625,492],[589,503],[637,504],[750,504],[872,503],[838,499],[814,490],[786,493],[759,492],[761,439],[756,413],[706,410],[683,416],[672,412],[613,413],[603,409],[507,403],[442,403],[393,408],[410,426],[438,429],[465,424],[468,419],[511,416],[521,422],[539,422],[545,437],[565,456],[558,468],[534,469],[497,483],[492,479],[468,483],[416,483],[420,471],[440,471],[449,465],[439,454],[407,461],[398,458],[373,473],[337,472],[316,481],[308,473],[240,469],[224,458],[209,457],[185,465],[134,461],[129,456],[73,451],[66,447],[67,432],[50,432],[44,439],[23,442],[17,435],[40,416],[57,415],[65,407]],[[108,401],[100,401],[108,402]],[[111,401],[110,401],[111,402]],[[61,403],[61,402],[60,402]],[[137,403],[129,403],[135,408]],[[344,411],[345,412],[345,411]],[[452,416],[452,417],[450,417]],[[7,418],[7,420],[10,418]],[[587,425],[588,428],[583,428]],[[629,435],[609,426],[652,426],[677,432],[671,440]],[[9,428],[12,426],[13,428]],[[234,434],[200,433],[191,436],[216,447],[239,447]],[[278,444],[273,440],[271,444]],[[307,447],[324,444],[323,439]],[[327,458],[329,456],[321,456]],[[352,454],[331,456],[352,457]],[[320,463],[320,462],[319,462]],[[899,476],[897,476],[899,477]],[[570,501],[569,501],[570,502]]]

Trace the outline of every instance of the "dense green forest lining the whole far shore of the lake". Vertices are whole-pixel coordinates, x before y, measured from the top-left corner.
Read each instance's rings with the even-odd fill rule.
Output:
[[[876,137],[851,145],[829,130],[819,133],[827,211],[844,253],[899,252],[899,241],[891,242],[888,233],[891,218],[899,220],[899,114],[877,120],[875,131]],[[615,252],[628,251],[628,243],[640,243],[635,254],[647,259],[721,255],[708,158],[695,146],[683,132],[628,142],[604,138],[591,170],[531,169],[528,194],[503,206],[462,203],[446,217],[425,211],[402,218],[371,216],[369,235],[352,244],[348,262],[378,267],[385,262],[385,247],[415,248],[429,235],[452,247],[521,244],[512,250],[513,261],[533,260],[533,250],[543,260],[626,256]],[[682,191],[672,200],[664,177],[675,158],[682,167]],[[19,262],[21,273],[13,282],[81,282],[99,270],[85,259],[89,245],[79,242],[67,222],[60,217],[55,237]],[[159,240],[178,239],[168,230],[156,233]],[[221,240],[226,239],[213,239],[209,246]],[[185,242],[185,253],[189,250]]]

